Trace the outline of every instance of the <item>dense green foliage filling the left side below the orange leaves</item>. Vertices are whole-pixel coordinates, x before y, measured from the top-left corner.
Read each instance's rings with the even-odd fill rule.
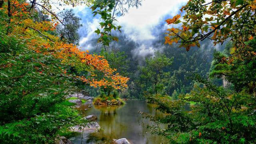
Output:
[[[82,122],[65,98],[76,89],[73,79],[59,59],[28,49],[6,29],[0,26],[0,143],[54,143],[57,134]]]

